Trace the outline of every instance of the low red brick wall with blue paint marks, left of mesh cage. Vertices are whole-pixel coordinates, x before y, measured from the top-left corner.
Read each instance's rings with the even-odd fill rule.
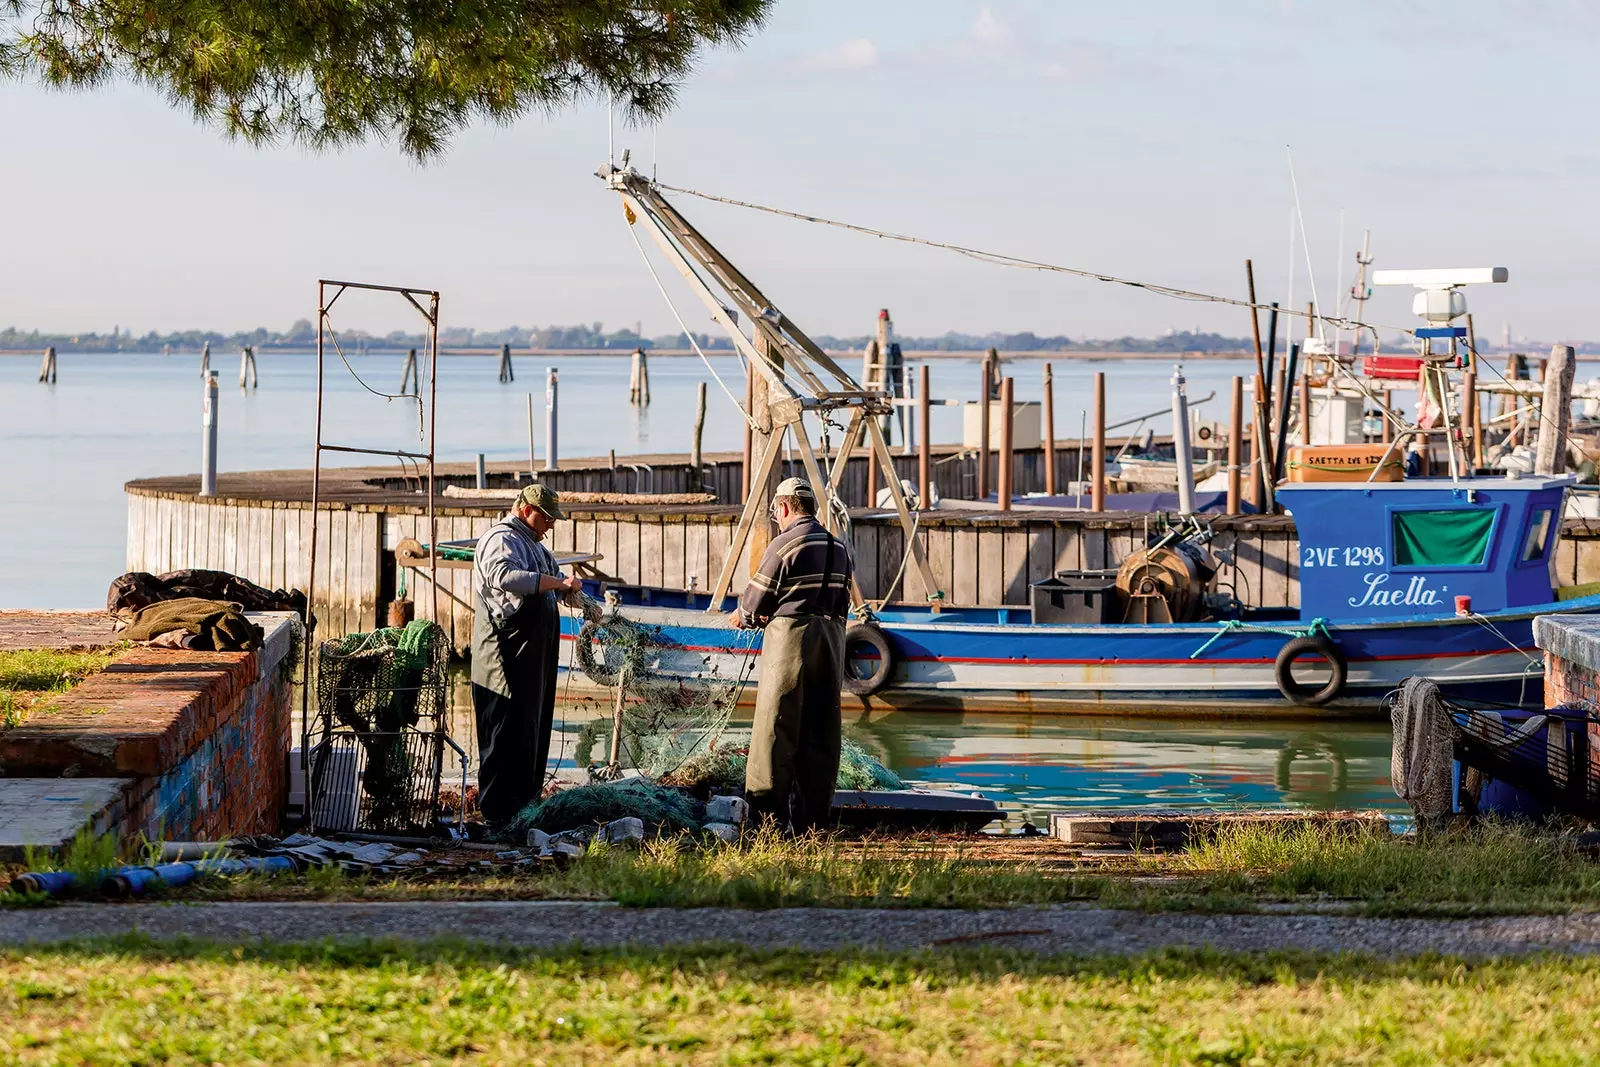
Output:
[[[253,616],[256,653],[138,648],[0,733],[0,776],[125,779],[93,819],[125,838],[277,832],[288,803],[293,653],[288,614]]]

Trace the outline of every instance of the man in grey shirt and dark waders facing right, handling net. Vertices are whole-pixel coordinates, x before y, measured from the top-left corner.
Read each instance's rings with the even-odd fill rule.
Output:
[[[554,490],[525,486],[474,553],[472,709],[478,809],[491,835],[544,790],[562,637],[555,600],[576,603],[582,590],[544,544],[558,518],[566,515]]]

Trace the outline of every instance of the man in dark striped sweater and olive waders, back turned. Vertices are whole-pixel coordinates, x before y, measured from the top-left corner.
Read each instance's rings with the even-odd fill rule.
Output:
[[[810,483],[778,483],[771,514],[781,533],[728,616],[734,629],[766,630],[744,798],[757,816],[808,830],[827,825],[838,777],[838,691],[854,565],[850,549],[818,522]]]

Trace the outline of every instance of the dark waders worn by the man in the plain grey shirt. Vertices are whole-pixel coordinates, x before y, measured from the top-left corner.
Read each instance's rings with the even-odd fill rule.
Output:
[[[478,809],[499,829],[544,792],[555,723],[562,616],[547,593],[528,595],[496,625],[472,613],[472,709],[478,728]]]

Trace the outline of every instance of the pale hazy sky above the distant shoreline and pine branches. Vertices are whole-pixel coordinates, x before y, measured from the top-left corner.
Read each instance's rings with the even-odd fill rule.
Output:
[[[594,178],[614,126],[674,186],[1227,296],[1253,258],[1264,299],[1302,304],[1293,154],[1322,307],[1371,230],[1379,269],[1509,267],[1469,293],[1480,336],[1600,338],[1597,40],[1589,0],[778,0],[658,128],[590,101],[427,165],[232,142],[142,86],[0,82],[0,326],[282,330],[347,277],[438,288],[445,325],[670,333]],[[878,307],[917,336],[1248,333],[1240,309],[674,198],[811,333]],[[339,314],[416,326],[395,298]],[[1411,325],[1410,291],[1366,317]]]

